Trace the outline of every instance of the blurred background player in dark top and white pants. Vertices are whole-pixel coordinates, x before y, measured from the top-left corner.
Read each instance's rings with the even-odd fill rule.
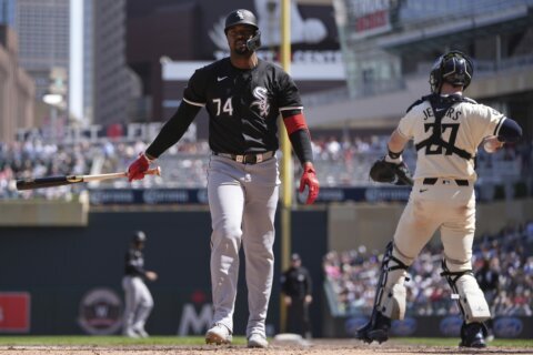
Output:
[[[122,278],[125,296],[122,334],[129,337],[148,337],[144,324],[153,307],[153,298],[144,284],[144,278],[155,281],[158,274],[144,270],[142,250],[145,242],[144,232],[134,232],[131,246],[125,253],[124,277]]]

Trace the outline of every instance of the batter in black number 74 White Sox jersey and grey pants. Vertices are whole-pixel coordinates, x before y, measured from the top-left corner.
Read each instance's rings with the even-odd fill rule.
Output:
[[[177,143],[201,108],[209,113],[208,197],[212,221],[211,284],[213,326],[207,343],[231,343],[239,271],[245,253],[248,345],[266,347],[265,317],[272,288],[274,215],[279,196],[275,151],[282,115],[302,164],[300,191],[306,203],[319,193],[311,139],[296,85],[280,67],[258,58],[261,33],[255,16],[235,10],[225,19],[230,57],[201,68],[190,78],[183,101],[144,153],[129,166],[129,180],[144,178],[150,162]]]

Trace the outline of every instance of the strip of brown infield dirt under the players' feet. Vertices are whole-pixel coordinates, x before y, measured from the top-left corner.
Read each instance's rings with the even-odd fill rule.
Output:
[[[169,355],[169,354],[266,354],[266,355],[378,355],[378,354],[533,354],[533,348],[487,347],[484,349],[463,349],[444,346],[400,345],[394,342],[382,345],[365,345],[358,341],[332,339],[313,341],[308,346],[272,343],[266,349],[239,346],[1,346],[0,355]]]

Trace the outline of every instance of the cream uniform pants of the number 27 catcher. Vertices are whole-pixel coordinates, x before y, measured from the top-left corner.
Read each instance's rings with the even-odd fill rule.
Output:
[[[435,184],[416,180],[394,233],[392,255],[410,266],[436,230],[441,232],[446,266],[451,272],[472,270],[472,243],[475,231],[475,193],[472,182],[457,185],[454,179],[438,179]],[[385,291],[403,285],[406,271],[391,271]],[[479,288],[476,280],[461,276],[460,290]],[[403,294],[401,297],[405,297]],[[382,298],[382,304],[386,297]]]

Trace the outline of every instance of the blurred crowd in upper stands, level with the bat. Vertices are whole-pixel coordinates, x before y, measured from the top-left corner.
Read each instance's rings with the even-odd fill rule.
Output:
[[[386,135],[318,135],[313,139],[315,165],[322,186],[358,186],[374,184],[369,180],[371,164],[386,151]],[[0,142],[0,197],[17,199],[40,196],[61,199],[72,192],[86,189],[46,189],[22,194],[16,191],[17,179],[39,178],[62,174],[98,174],[123,171],[134,160],[145,143],[120,142],[102,139],[98,143],[80,141],[74,144],[46,143],[39,139],[6,144]],[[506,146],[496,154],[486,154],[482,149],[477,154],[480,181],[499,183],[520,176],[531,176],[532,142]],[[278,152],[278,154],[281,154]],[[414,149],[406,149],[404,159],[414,170]],[[205,141],[180,142],[163,154],[158,164],[162,176],[135,181],[113,180],[100,184],[107,187],[204,187],[205,170],[209,163],[209,145]],[[295,165],[298,166],[298,164]],[[295,169],[295,181],[298,180]]]

